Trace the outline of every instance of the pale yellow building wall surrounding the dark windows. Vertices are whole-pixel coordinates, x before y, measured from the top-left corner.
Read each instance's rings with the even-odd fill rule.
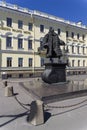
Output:
[[[1,3],[0,3],[1,4]],[[12,7],[11,7],[12,6]],[[12,27],[7,27],[7,17],[12,18]],[[18,28],[18,20],[23,21],[23,28]],[[28,24],[32,23],[32,31],[28,29]],[[44,32],[40,32],[40,25],[44,25]],[[9,5],[6,8],[6,3],[0,7],[0,67],[1,72],[16,72],[30,73],[41,72],[41,57],[38,55],[38,47],[40,47],[40,39],[48,33],[49,27],[53,27],[58,33],[59,38],[66,44],[65,49],[68,49],[69,69],[71,67],[87,67],[87,28],[79,23],[72,23],[64,19],[51,16],[38,11],[29,11],[23,8],[17,8],[14,5]],[[66,31],[68,36],[66,37]],[[71,34],[74,33],[72,38]],[[77,38],[79,34],[79,38]],[[84,35],[84,39],[82,36]],[[6,37],[12,37],[12,46],[6,47]],[[23,48],[18,48],[18,38],[23,39]],[[32,49],[28,48],[28,40],[32,40]],[[79,46],[79,52],[78,52]],[[83,53],[84,47],[84,53]],[[61,47],[63,49],[63,47]],[[7,67],[7,58],[12,57],[12,66]],[[18,67],[18,58],[23,58],[23,66]],[[29,67],[28,60],[32,58],[32,66]],[[79,65],[78,62],[80,61]],[[84,63],[83,63],[84,62]],[[23,72],[22,72],[23,70]],[[28,76],[28,74],[27,74]],[[15,77],[15,76],[14,76]]]

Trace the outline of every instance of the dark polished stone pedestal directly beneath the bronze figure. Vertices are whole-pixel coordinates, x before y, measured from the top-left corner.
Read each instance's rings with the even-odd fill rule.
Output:
[[[46,58],[42,80],[46,83],[66,82],[66,64],[58,58]]]

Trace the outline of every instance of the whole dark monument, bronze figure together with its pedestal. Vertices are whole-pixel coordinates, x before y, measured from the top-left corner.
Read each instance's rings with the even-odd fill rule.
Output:
[[[42,73],[42,80],[49,84],[66,82],[65,47],[64,52],[60,48],[61,45],[65,46],[65,43],[59,39],[58,34],[54,32],[52,27],[44,38],[40,39],[40,42],[38,54],[46,57],[44,58],[45,70]]]

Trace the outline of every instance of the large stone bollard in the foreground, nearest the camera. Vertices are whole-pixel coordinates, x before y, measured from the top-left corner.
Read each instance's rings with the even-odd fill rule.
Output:
[[[44,123],[44,110],[42,101],[37,100],[31,103],[29,123],[33,125],[41,125]]]

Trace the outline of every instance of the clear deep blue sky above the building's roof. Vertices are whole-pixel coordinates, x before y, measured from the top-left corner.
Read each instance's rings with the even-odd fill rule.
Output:
[[[71,22],[87,25],[87,0],[5,0],[30,10],[38,10]]]

